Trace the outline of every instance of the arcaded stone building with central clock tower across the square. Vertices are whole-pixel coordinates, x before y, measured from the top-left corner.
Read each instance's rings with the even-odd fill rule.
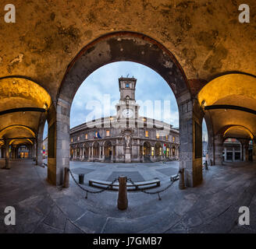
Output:
[[[140,117],[137,79],[119,78],[116,116],[70,129],[70,160],[112,163],[178,160],[180,133],[165,122]]]

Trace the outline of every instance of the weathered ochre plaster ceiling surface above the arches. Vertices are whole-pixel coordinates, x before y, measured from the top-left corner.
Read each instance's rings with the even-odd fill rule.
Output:
[[[9,2],[2,1],[1,9]],[[238,22],[240,1],[16,0],[16,23],[0,11],[0,77],[26,75],[55,100],[69,62],[105,33],[147,34],[172,51],[188,79],[227,71],[256,75],[256,2],[251,23]]]

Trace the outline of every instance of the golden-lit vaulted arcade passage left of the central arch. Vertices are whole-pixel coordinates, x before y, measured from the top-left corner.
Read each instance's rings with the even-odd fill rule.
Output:
[[[0,140],[5,146],[5,165],[9,167],[9,146],[30,147],[30,158],[42,164],[42,135],[46,119],[55,118],[49,93],[32,79],[9,76],[0,79]],[[51,147],[51,146],[50,146]],[[55,147],[55,140],[52,140]],[[13,154],[12,154],[13,156]],[[48,172],[48,179],[50,172]],[[52,181],[50,181],[52,182]]]

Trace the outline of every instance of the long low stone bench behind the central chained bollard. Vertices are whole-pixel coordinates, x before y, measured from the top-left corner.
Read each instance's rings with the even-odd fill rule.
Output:
[[[100,180],[89,180],[89,186],[96,187],[96,188],[108,188],[108,186],[111,184],[111,181],[100,181]],[[134,182],[136,186],[131,184],[130,182],[127,182],[127,191],[138,191],[141,189],[149,189],[149,188],[156,188],[160,187],[160,180],[152,180],[152,181],[139,181]],[[119,189],[119,182],[115,182],[109,190],[118,190]]]

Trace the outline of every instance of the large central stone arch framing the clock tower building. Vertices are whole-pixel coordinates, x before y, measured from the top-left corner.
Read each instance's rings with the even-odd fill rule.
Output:
[[[195,160],[193,146],[194,120],[198,119],[194,107],[197,103],[192,101],[186,75],[174,55],[157,40],[142,33],[126,31],[108,33],[92,41],[69,64],[57,98],[57,169],[69,167],[69,160],[66,160],[69,158],[69,113],[76,90],[96,69],[115,61],[133,61],[146,65],[169,84],[176,96],[180,114],[180,168],[185,169],[187,186],[200,184],[201,162]]]

